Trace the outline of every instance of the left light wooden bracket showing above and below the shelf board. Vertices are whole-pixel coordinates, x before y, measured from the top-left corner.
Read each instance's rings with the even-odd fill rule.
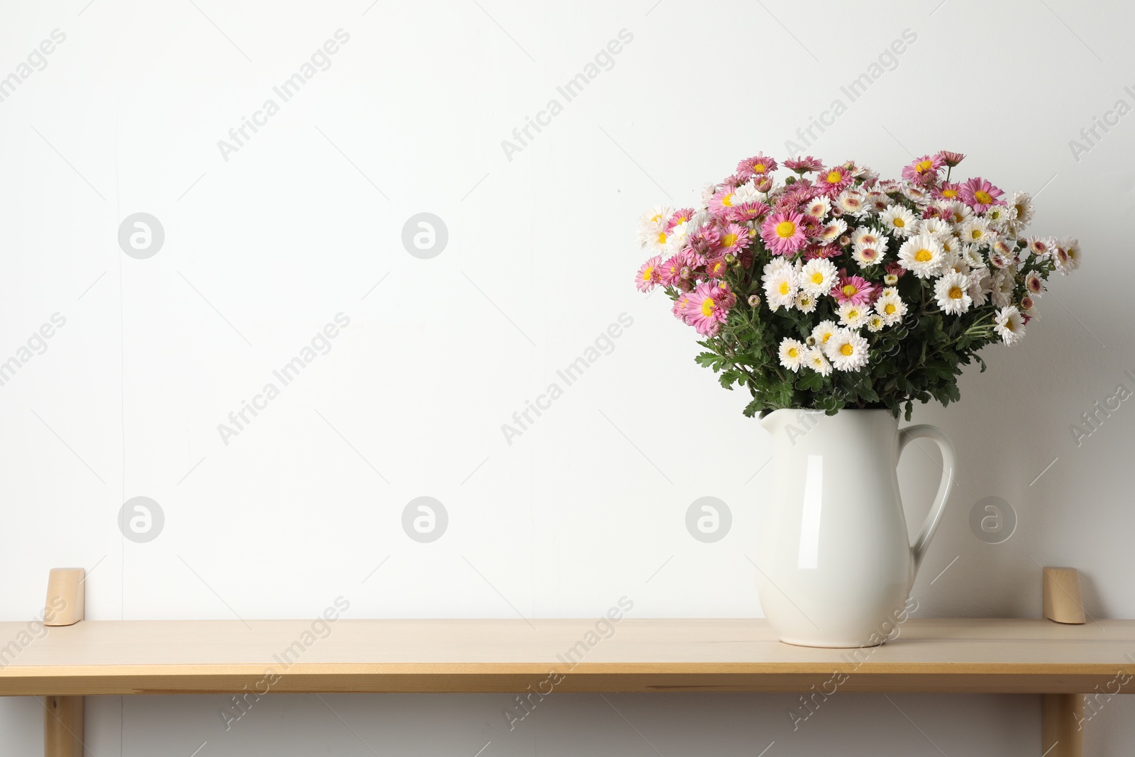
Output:
[[[48,577],[48,598],[43,624],[75,625],[86,613],[86,571],[82,567],[52,567]],[[44,757],[83,757],[83,697],[43,698]]]

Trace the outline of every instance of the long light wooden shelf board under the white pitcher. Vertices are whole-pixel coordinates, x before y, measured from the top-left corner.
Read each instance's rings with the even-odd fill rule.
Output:
[[[319,638],[310,620],[83,621],[0,655],[0,695],[239,693],[268,674],[272,692],[524,691],[552,672],[577,692],[808,691],[843,673],[841,691],[1070,693],[1135,672],[1135,621],[911,619],[865,649],[784,645],[760,620],[595,625],[339,620]],[[0,623],[0,639],[24,630]]]

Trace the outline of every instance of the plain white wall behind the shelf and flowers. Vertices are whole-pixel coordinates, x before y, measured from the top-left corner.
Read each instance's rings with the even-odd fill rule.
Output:
[[[1135,616],[1135,410],[1078,447],[1069,431],[1117,384],[1135,388],[1135,117],[1069,148],[1117,100],[1135,106],[1132,8],[653,2],[6,2],[0,76],[53,30],[66,40],[0,102],[0,360],[53,313],[66,326],[0,387],[0,617],[31,619],[48,570],[69,564],[92,570],[91,620],[310,617],[340,595],[352,617],[590,616],[623,595],[634,616],[759,615],[746,556],[768,472],[750,478],[770,444],[743,397],[693,364],[667,303],[634,292],[634,222],[758,150],[783,155],[836,98],[847,112],[809,152],[891,175],[907,149],[967,152],[973,174],[1043,190],[1035,228],[1087,253],[1024,344],[964,377],[960,405],[916,412],[961,455],[919,615],[1037,616],[1042,563],[1083,571],[1093,615]],[[222,158],[218,140],[279,103],[272,86],[340,28],[330,68]],[[563,102],[556,86],[621,30],[633,40],[614,66],[506,157],[502,140]],[[841,85],[903,30],[917,41],[849,102]],[[135,212],[165,229],[145,260],[117,242]],[[401,241],[419,212],[448,229],[429,260]],[[222,443],[218,423],[337,313],[350,326],[330,352]],[[507,444],[502,423],[621,313],[633,325],[613,352]],[[712,444],[690,441],[707,429]],[[911,529],[932,454],[902,463]],[[706,495],[733,514],[715,544],[684,527]],[[135,496],[165,513],[150,542],[117,525]],[[448,513],[430,544],[401,525],[419,496]],[[1018,518],[1000,545],[968,525],[987,496]],[[512,733],[507,699],[328,697],[356,738],[316,698],[270,699],[227,733],[221,697],[101,698],[87,746],[1040,754],[1032,697],[848,695],[797,733],[789,696],[562,696]],[[37,754],[39,710],[0,701],[18,747],[5,754]],[[1133,712],[1113,701],[1093,718],[1088,754],[1124,754]]]

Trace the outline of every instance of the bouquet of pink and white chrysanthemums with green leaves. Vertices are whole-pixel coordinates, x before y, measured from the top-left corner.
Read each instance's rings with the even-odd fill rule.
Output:
[[[901,179],[855,162],[758,154],[709,185],[703,208],[642,216],[651,253],[638,288],[664,287],[706,347],[722,386],[753,394],[745,414],[780,407],[888,407],[959,399],[958,376],[992,342],[1015,344],[1052,271],[1079,243],[1023,236],[1025,192],[1006,202],[983,178],[952,183],[965,155],[939,152]],[[809,176],[814,175],[814,178]]]

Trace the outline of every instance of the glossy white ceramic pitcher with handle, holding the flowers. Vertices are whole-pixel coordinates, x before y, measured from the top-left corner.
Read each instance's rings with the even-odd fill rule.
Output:
[[[893,636],[901,608],[942,519],[955,454],[933,426],[899,430],[886,410],[776,410],[760,495],[757,589],[782,641],[867,647]],[[911,545],[899,498],[902,449],[926,437],[942,451],[942,480]]]

